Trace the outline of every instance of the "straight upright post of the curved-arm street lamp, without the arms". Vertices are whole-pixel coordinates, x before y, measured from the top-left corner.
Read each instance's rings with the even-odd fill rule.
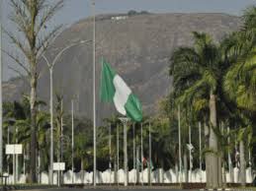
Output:
[[[50,81],[50,98],[49,98],[49,111],[50,111],[50,167],[49,167],[49,184],[53,184],[53,73],[52,67],[49,68],[49,81]]]

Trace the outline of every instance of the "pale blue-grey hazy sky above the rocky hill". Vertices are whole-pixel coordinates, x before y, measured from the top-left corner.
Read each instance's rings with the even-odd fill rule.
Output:
[[[10,22],[7,15],[11,10],[9,0],[2,1],[3,26],[8,27]],[[152,13],[226,13],[240,16],[250,5],[256,5],[256,0],[96,0],[96,14],[136,10]],[[54,17],[53,23],[71,25],[90,14],[90,0],[64,0],[64,7]],[[8,46],[6,40],[3,45]],[[4,63],[4,80],[14,76],[6,65]]]

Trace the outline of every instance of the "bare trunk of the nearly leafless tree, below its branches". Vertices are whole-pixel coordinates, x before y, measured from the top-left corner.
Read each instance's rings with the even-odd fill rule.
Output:
[[[37,150],[37,126],[36,126],[36,117],[37,117],[37,73],[36,67],[31,68],[31,150],[30,150],[30,182],[37,182],[37,167],[36,167],[36,150]]]

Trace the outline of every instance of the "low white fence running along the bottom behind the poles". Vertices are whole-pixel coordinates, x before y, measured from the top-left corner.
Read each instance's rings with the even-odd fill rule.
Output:
[[[119,183],[124,183],[125,181],[125,171],[124,169],[119,169],[117,172],[116,180]],[[145,168],[142,172],[138,172],[138,178],[136,177],[137,173],[135,169],[131,169],[128,172],[128,182],[129,183],[147,183],[149,178],[149,173],[147,168]],[[117,183],[115,181],[115,171],[97,171],[96,174],[97,183]],[[164,171],[162,168],[158,168],[151,171],[151,182],[152,183],[178,183],[179,182],[179,173],[173,169],[169,169]],[[181,172],[182,181],[185,182],[185,171]],[[226,182],[231,182],[230,174],[228,172],[225,173]],[[20,174],[17,183],[26,183],[27,176],[25,174]],[[48,184],[48,173],[42,172],[40,174],[40,183]],[[233,181],[232,183],[238,183],[239,178],[239,169],[233,169]],[[251,172],[251,168],[246,169],[246,182],[251,183],[253,180],[253,175]],[[206,171],[195,169],[192,172],[188,171],[188,181],[189,182],[206,182]],[[10,174],[7,180],[8,184],[13,184],[14,179],[13,175]],[[57,184],[57,172],[53,174],[53,182]],[[64,184],[91,184],[93,183],[93,172],[80,171],[72,173],[71,170],[63,173],[63,183]]]

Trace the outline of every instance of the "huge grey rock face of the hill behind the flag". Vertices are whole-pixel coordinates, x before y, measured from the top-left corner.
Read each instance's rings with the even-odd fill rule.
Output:
[[[219,40],[224,34],[238,30],[238,17],[223,14],[146,14],[137,16],[99,16],[96,22],[96,85],[98,122],[114,114],[112,104],[99,99],[101,60],[106,59],[125,79],[141,100],[145,114],[157,112],[159,98],[170,92],[169,58],[174,48],[192,44],[191,32],[209,32]],[[61,32],[47,50],[49,60],[66,45],[92,39],[90,19],[80,21]],[[39,96],[49,100],[49,73],[43,71]],[[70,99],[77,100],[76,114],[92,118],[93,108],[92,43],[73,46],[58,59],[53,75],[54,90],[64,95],[66,113]],[[19,99],[28,92],[25,80],[16,79],[4,85],[4,99]]]

